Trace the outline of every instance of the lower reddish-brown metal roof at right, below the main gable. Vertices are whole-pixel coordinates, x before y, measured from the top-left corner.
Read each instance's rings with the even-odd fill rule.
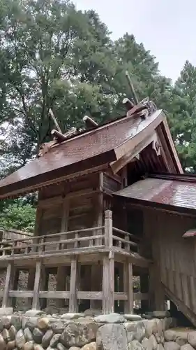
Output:
[[[179,179],[181,178],[183,178],[183,175],[179,176]],[[126,197],[133,201],[196,209],[195,181],[176,181],[152,177],[137,181],[133,185],[114,193],[114,195]]]

